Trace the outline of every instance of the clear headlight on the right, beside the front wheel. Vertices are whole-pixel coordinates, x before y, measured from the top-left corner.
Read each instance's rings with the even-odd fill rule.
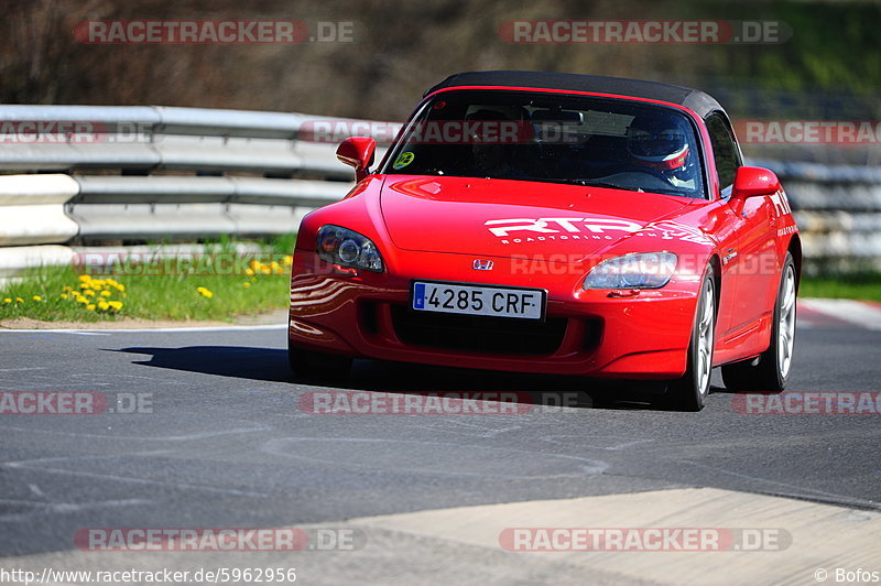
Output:
[[[659,289],[676,271],[673,252],[639,252],[605,260],[594,267],[584,289]]]

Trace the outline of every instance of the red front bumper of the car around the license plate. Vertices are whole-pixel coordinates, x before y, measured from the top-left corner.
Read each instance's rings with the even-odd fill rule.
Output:
[[[399,254],[384,273],[345,274],[313,251],[297,250],[291,280],[289,339],[352,357],[515,372],[598,378],[674,379],[685,371],[697,283],[672,281],[637,296],[583,291],[566,265],[522,265],[474,256]],[[410,310],[414,279],[527,286],[547,291],[546,321],[512,324]],[[488,321],[487,321],[488,319]]]

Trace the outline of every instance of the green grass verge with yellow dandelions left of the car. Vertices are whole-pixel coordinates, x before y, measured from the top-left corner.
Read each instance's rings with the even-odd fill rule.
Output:
[[[0,319],[100,322],[123,317],[231,322],[289,303],[293,236],[240,254],[220,242],[204,254],[163,253],[112,269],[42,267],[0,289]]]

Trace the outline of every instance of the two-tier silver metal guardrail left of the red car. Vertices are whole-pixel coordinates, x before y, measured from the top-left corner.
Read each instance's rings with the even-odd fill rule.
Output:
[[[354,176],[337,161],[336,141],[304,140],[314,138],[309,124],[333,123],[344,135],[358,127],[301,113],[102,106],[0,106],[0,171],[70,175],[54,219],[40,219],[48,208],[4,207],[0,246],[290,232],[305,213],[342,197]],[[35,193],[64,181],[48,177],[14,181]]]

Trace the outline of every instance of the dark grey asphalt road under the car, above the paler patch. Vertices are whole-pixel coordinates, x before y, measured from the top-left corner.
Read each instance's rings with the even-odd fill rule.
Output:
[[[0,391],[151,403],[137,414],[0,417],[0,555],[72,550],[81,528],[333,523],[672,487],[881,508],[877,415],[746,415],[720,384],[703,412],[678,413],[627,389],[597,402],[578,379],[372,361],[316,386],[293,378],[284,347],[279,328],[0,333]],[[877,391],[880,347],[881,332],[800,328],[791,390]],[[304,392],[333,388],[579,393],[581,404],[507,415],[301,410]]]

